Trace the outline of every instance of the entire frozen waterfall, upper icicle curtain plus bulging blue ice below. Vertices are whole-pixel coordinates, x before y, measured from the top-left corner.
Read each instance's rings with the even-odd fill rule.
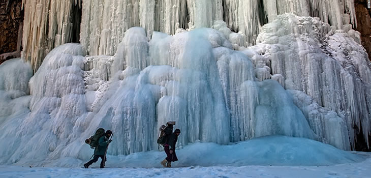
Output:
[[[36,61],[0,65],[0,163],[86,160],[98,127],[110,155],[157,150],[167,121],[178,147],[286,135],[351,150],[360,129],[369,144],[371,64],[348,2],[86,0],[81,44],[53,43],[34,75]]]

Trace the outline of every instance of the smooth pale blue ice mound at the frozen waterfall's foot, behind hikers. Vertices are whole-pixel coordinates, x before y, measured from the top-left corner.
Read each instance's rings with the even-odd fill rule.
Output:
[[[182,136],[182,135],[180,135]],[[361,162],[365,156],[338,150],[335,147],[306,138],[267,136],[235,144],[192,143],[176,151],[175,167],[301,165],[324,166]],[[310,154],[308,154],[310,153]],[[131,155],[108,156],[107,167],[161,167],[164,152],[150,151]],[[81,166],[87,160],[61,159],[46,166]],[[100,161],[91,167],[99,167]]]

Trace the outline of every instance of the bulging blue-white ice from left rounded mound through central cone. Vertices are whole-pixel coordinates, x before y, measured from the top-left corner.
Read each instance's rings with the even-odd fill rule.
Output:
[[[6,155],[3,163],[22,164],[58,157],[87,159],[89,148],[83,140],[98,127],[110,128],[115,133],[109,151],[112,155],[154,150],[158,126],[173,120],[182,130],[178,146],[197,140],[225,144],[273,134],[316,138],[284,88],[272,80],[255,83],[249,57],[223,47],[230,47],[230,43],[221,38],[219,31],[195,29],[163,36],[169,38],[165,42],[150,43],[139,40],[145,37],[142,28],[128,32],[119,48],[122,51],[113,57],[112,76],[106,84],[104,78],[99,78],[102,74],[84,75],[88,71],[83,69],[91,69],[88,67],[91,59],[81,56],[79,44],[61,45],[47,55],[29,81],[30,113],[16,128],[4,128],[5,132],[17,133],[2,139],[12,137],[21,141],[2,150]],[[126,38],[132,39],[129,44]],[[166,52],[154,52],[152,46]],[[219,53],[218,57],[214,51]],[[105,66],[108,61],[104,62],[104,58],[107,57],[95,56],[94,61],[102,61]],[[224,63],[218,64],[219,60]],[[219,68],[226,67],[230,71],[225,72],[231,76],[221,82]],[[239,67],[243,68],[234,70]],[[95,73],[94,70],[97,69],[93,67],[90,72]],[[96,72],[108,74],[99,68]],[[242,72],[245,77],[234,72]],[[84,81],[84,77],[95,78],[102,85],[92,87],[94,84]],[[222,85],[233,85],[235,89],[230,91],[231,88]],[[233,100],[224,95],[234,91]],[[226,104],[228,100],[230,104]],[[239,107],[236,102],[249,107]],[[254,114],[254,108],[264,114]],[[231,122],[235,122],[232,127]]]

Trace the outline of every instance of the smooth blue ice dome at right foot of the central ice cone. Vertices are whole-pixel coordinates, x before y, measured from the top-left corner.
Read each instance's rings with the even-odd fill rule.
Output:
[[[274,80],[257,82],[259,105],[255,107],[255,137],[287,135],[318,139],[292,96]]]

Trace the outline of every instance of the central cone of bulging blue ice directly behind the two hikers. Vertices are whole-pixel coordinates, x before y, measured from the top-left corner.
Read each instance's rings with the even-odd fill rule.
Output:
[[[153,138],[158,127],[171,120],[182,130],[178,146],[197,140],[228,143],[271,134],[316,139],[301,111],[287,102],[291,99],[282,86],[266,81],[281,91],[260,90],[259,85],[264,84],[255,84],[249,57],[231,50],[221,32],[209,28],[174,36],[155,32],[149,43],[144,41],[145,35],[138,27],[126,32],[113,56],[111,83],[102,107],[91,114],[89,132],[98,126],[117,132],[114,154],[156,149]],[[138,64],[147,67],[142,69]],[[287,105],[277,107],[273,101]],[[259,105],[261,112],[278,112],[255,116]],[[231,117],[238,124],[230,126]],[[256,120],[269,127],[261,127]]]

